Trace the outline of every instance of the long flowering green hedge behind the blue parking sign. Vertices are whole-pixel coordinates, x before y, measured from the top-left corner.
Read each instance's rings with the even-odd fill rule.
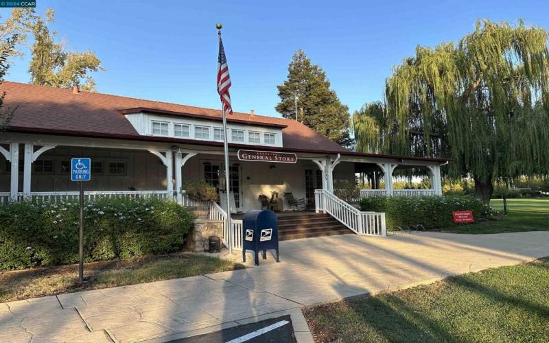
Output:
[[[86,261],[176,252],[193,215],[169,200],[102,198],[84,207]],[[78,262],[78,201],[0,206],[0,270]]]

